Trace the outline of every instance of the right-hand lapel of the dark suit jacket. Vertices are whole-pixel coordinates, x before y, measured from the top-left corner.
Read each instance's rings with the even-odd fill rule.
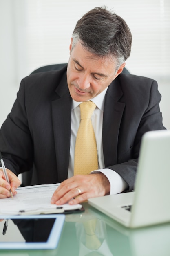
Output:
[[[123,95],[118,79],[106,92],[103,115],[103,153],[105,167],[117,164],[117,143],[125,103],[119,102]]]

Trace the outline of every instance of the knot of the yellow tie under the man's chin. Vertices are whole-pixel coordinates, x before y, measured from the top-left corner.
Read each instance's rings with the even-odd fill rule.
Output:
[[[96,108],[92,101],[84,101],[80,105],[81,119],[90,119]]]

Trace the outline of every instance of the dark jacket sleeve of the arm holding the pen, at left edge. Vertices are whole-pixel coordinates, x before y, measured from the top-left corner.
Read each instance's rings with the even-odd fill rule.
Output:
[[[11,113],[2,124],[0,131],[0,150],[6,168],[16,175],[29,171],[33,165],[33,141],[26,117],[24,99],[25,89],[24,80],[22,80]]]

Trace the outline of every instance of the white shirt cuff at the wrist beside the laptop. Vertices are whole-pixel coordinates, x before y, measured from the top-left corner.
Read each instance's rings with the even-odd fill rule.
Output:
[[[110,182],[110,195],[121,193],[128,187],[124,179],[111,169],[99,169],[91,173],[103,173],[108,178]]]

